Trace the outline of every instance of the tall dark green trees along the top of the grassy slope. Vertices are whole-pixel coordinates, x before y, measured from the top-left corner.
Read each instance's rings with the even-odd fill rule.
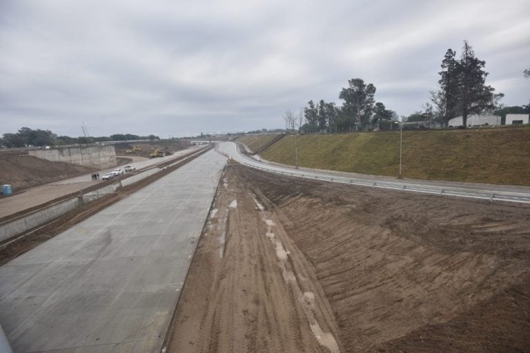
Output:
[[[439,72],[439,88],[431,92],[431,102],[422,105],[422,110],[409,117],[401,117],[401,120],[432,121],[446,126],[449,120],[462,116],[465,126],[471,114],[493,113],[504,119],[507,113],[530,113],[530,103],[513,107],[500,104],[504,94],[495,93],[495,88],[486,85],[489,73],[484,70],[485,65],[485,61],[475,57],[467,41],[464,41],[460,57],[455,50],[448,49]],[[524,70],[523,74],[530,77],[530,69]],[[375,102],[375,85],[366,84],[362,79],[351,79],[348,83],[349,86],[342,88],[339,94],[342,106],[324,100],[317,104],[308,101],[302,112],[295,114],[288,110],[284,114],[286,128],[295,130],[297,125],[301,132],[338,132],[364,130],[366,124],[377,124],[380,130],[389,130],[398,117],[382,102]]]

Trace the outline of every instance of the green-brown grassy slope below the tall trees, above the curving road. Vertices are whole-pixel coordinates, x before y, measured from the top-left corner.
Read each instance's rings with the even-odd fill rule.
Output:
[[[297,146],[302,167],[399,174],[400,132],[304,135]],[[294,137],[262,155],[294,165]],[[407,178],[530,185],[530,128],[404,131],[402,159]]]

